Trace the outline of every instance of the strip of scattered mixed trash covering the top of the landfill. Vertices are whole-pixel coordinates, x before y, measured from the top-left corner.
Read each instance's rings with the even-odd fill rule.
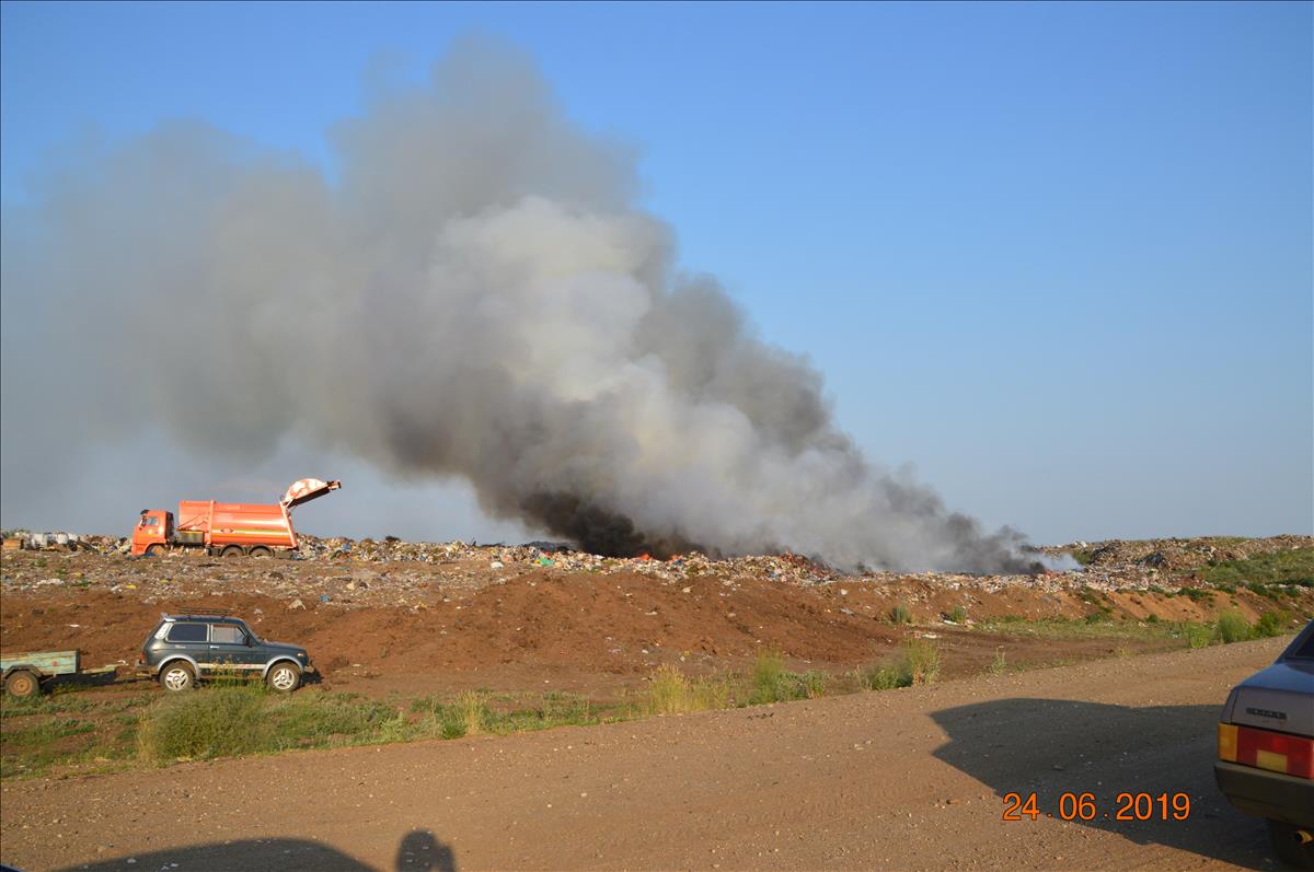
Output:
[[[5,533],[7,538],[11,533]],[[28,534],[30,537],[30,534]],[[22,538],[20,532],[14,537]],[[53,541],[53,540],[47,540]],[[5,594],[53,588],[135,591],[143,598],[209,596],[239,592],[281,598],[300,607],[389,605],[410,609],[427,603],[470,596],[490,584],[515,579],[573,575],[643,575],[664,584],[716,579],[735,584],[745,579],[795,587],[862,583],[916,591],[1029,591],[1060,594],[1156,587],[1176,591],[1194,583],[1192,569],[1209,561],[1235,559],[1279,550],[1314,546],[1314,537],[1277,536],[1260,540],[1154,540],[1076,542],[1041,549],[1050,557],[1076,554],[1085,566],[1035,575],[967,575],[954,573],[844,574],[796,554],[712,558],[678,554],[660,561],[616,558],[573,550],[555,542],[477,545],[473,542],[407,542],[394,537],[301,537],[296,559],[170,553],[130,557],[126,540],[110,536],[68,536],[53,552],[7,550],[0,582]],[[76,544],[74,550],[68,545]],[[38,557],[39,554],[39,557]],[[296,605],[292,605],[296,608]]]

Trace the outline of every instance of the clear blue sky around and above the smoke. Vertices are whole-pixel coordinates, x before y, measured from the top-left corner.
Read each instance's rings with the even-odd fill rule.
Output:
[[[507,38],[874,460],[1038,541],[1309,533],[1311,9],[5,3],[0,196],[176,117],[331,172],[371,81]]]

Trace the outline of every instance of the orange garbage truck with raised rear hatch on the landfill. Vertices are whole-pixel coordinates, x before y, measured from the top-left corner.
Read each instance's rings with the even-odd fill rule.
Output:
[[[133,529],[131,553],[159,556],[173,549],[204,549],[219,557],[286,557],[297,550],[292,510],[339,487],[342,482],[302,478],[271,506],[184,499],[177,504],[176,519],[173,512],[143,508]]]

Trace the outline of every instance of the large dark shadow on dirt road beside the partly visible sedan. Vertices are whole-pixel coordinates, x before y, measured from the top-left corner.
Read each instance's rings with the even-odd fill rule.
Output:
[[[1000,826],[1046,826],[1060,796],[1095,795],[1096,817],[1076,823],[1117,833],[1138,844],[1164,844],[1250,869],[1272,869],[1264,823],[1235,812],[1214,785],[1219,705],[1127,708],[1077,700],[1010,699],[932,713],[949,734],[934,755],[988,785],[1000,797],[1034,792],[1039,821]],[[1118,793],[1147,793],[1147,821],[1116,819]],[[1187,819],[1160,814],[1158,797],[1187,793]],[[1126,801],[1123,801],[1126,802]],[[1142,804],[1146,808],[1146,804]]]

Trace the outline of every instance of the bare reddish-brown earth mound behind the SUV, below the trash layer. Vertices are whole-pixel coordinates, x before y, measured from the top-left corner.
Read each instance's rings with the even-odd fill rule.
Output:
[[[644,575],[526,578],[472,599],[415,611],[289,608],[267,596],[160,598],[60,591],[41,600],[7,598],[7,650],[80,647],[88,663],[133,663],[164,612],[227,611],[269,638],[305,643],[326,671],[352,663],[393,671],[476,670],[499,663],[558,663],[594,672],[646,671],[658,662],[752,657],[763,649],[796,658],[858,662],[900,638],[867,615],[845,615],[829,598],[771,582],[690,579],[673,587]]]

